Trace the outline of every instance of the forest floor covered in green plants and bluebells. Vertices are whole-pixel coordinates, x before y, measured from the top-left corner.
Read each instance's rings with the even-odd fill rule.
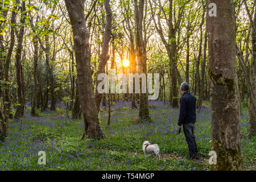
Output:
[[[137,123],[137,109],[130,102],[112,105],[112,118],[107,126],[108,110],[101,107],[100,122],[105,138],[79,139],[82,119],[67,118],[64,108],[31,117],[27,111],[22,121],[11,121],[9,137],[0,142],[0,170],[209,170],[210,109],[204,102],[197,113],[195,136],[200,160],[187,160],[184,134],[176,135],[179,109],[162,101],[150,101],[151,122]],[[29,110],[29,109],[28,109]],[[71,114],[69,114],[71,115]],[[241,113],[242,155],[246,170],[255,170],[256,138],[247,133],[249,117]],[[142,143],[157,143],[161,158],[143,155]],[[38,164],[38,152],[46,152],[46,165]]]

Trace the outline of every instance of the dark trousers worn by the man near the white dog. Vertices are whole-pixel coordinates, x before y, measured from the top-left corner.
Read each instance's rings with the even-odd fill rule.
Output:
[[[183,124],[183,131],[185,134],[185,138],[188,144],[188,151],[189,151],[189,156],[195,155],[197,151],[197,146],[196,146],[196,139],[194,135],[194,128],[195,128],[195,123],[184,123]]]

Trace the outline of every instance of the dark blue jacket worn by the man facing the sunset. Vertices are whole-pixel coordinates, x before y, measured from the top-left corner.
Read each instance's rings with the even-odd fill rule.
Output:
[[[180,116],[178,125],[196,122],[196,97],[190,92],[185,92],[180,97]]]

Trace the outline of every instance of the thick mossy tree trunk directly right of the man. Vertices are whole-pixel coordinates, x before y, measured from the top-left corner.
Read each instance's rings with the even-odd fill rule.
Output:
[[[217,153],[217,164],[212,164],[210,169],[242,170],[233,1],[208,0],[207,7],[209,3],[217,5],[217,16],[208,14],[207,22],[212,100],[212,150]]]

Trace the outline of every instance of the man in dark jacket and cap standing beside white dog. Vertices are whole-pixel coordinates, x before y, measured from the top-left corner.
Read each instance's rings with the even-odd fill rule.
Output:
[[[188,144],[189,159],[199,159],[197,154],[197,146],[194,135],[195,122],[196,122],[196,97],[189,92],[189,85],[183,82],[180,85],[180,115],[178,122],[178,129],[183,125],[183,131]]]

